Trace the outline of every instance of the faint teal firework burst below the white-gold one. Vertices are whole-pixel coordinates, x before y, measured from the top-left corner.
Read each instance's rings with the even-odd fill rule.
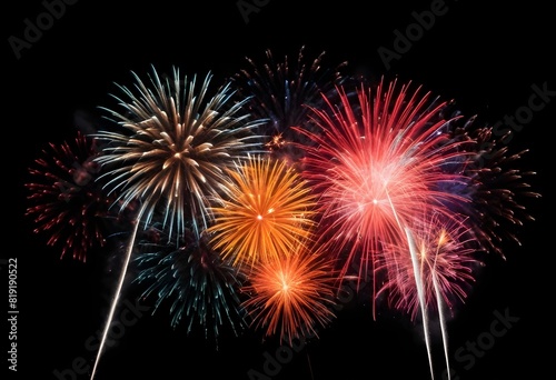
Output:
[[[143,297],[156,297],[155,311],[169,304],[173,328],[186,323],[190,333],[200,327],[215,340],[225,326],[238,334],[247,326],[238,296],[242,276],[209,247],[205,233],[197,238],[186,230],[177,246],[165,234],[151,227],[139,243],[136,282],[148,284]]]

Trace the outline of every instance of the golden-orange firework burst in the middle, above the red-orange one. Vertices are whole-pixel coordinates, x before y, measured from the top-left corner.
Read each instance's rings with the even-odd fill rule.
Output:
[[[215,249],[234,264],[255,264],[291,252],[310,236],[316,200],[285,161],[249,157],[228,170],[228,199],[212,208]]]

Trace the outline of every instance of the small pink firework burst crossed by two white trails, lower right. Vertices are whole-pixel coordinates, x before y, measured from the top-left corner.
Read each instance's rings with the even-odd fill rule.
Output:
[[[415,262],[407,240],[386,244],[377,256],[377,272],[384,276],[378,296],[386,293],[388,304],[411,319],[421,307],[417,279],[423,283],[427,311],[454,313],[454,308],[467,298],[475,281],[474,271],[480,266],[480,250],[467,220],[441,219],[438,214],[424,216],[409,227],[416,247]]]

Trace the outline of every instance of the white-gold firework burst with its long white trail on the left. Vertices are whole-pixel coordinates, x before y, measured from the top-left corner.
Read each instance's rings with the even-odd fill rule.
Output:
[[[133,77],[135,91],[120,87],[128,99],[115,97],[126,114],[108,110],[127,133],[103,131],[97,136],[108,141],[98,162],[107,170],[101,177],[112,177],[107,182],[111,188],[109,193],[119,192],[117,199],[122,209],[135,200],[139,200],[141,207],[91,379],[102,354],[139,224],[148,226],[162,206],[162,224],[169,228],[168,236],[172,236],[172,231],[177,231],[173,236],[182,234],[186,224],[192,222],[199,238],[210,220],[208,199],[221,194],[220,183],[226,179],[226,169],[246,151],[259,146],[259,138],[251,132],[259,121],[237,116],[242,102],[228,106],[232,94],[228,84],[220,87],[205,103],[211,74],[207,74],[199,90],[196,76],[188,82],[187,77],[179,77],[177,69],[171,81],[161,81],[152,70],[151,88],[135,73]]]

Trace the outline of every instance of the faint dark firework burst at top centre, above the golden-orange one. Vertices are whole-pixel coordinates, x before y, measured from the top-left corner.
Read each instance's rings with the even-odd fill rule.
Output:
[[[298,163],[302,150],[292,142],[305,137],[291,127],[309,128],[308,106],[319,107],[322,92],[334,89],[341,81],[341,62],[334,70],[322,68],[325,52],[312,61],[306,60],[305,47],[299,49],[297,60],[285,57],[277,62],[270,50],[266,50],[267,61],[258,64],[247,58],[248,68],[232,77],[239,99],[248,98],[246,109],[254,118],[265,119],[259,126],[259,134],[266,137],[267,150],[276,157]],[[308,140],[305,140],[309,143]]]

